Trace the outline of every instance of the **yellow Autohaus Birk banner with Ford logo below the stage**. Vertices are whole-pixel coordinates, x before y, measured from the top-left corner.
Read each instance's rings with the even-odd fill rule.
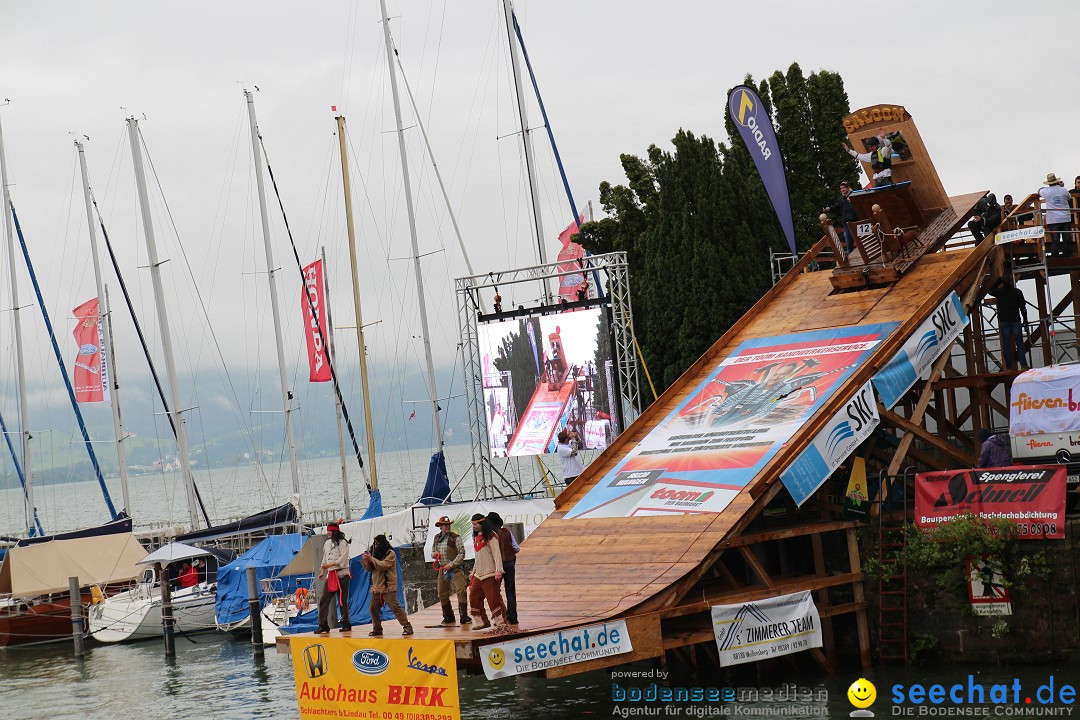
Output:
[[[461,720],[453,640],[289,642],[300,720]]]

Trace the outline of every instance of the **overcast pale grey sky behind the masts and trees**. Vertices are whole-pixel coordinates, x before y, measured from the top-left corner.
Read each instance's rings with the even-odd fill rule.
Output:
[[[1026,5],[546,0],[521,2],[517,12],[579,206],[595,203],[602,180],[623,180],[620,153],[643,153],[650,144],[670,147],[679,127],[725,139],[728,89],[747,72],[761,79],[792,62],[807,74],[821,68],[839,72],[852,108],[905,106],[950,194],[988,189],[999,198],[1007,192],[1021,198],[1048,172],[1068,182],[1080,174],[1075,139],[1080,93],[1068,50],[1077,46],[1080,4],[1071,0]],[[389,14],[475,269],[532,264],[501,2],[392,1]],[[160,181],[151,194],[159,254],[170,259],[164,272],[179,363],[213,367],[217,362],[195,312],[198,285],[226,362],[273,365],[242,95],[246,84],[260,91],[259,125],[300,256],[307,261],[326,246],[340,325],[352,324],[352,308],[330,106],[346,114],[364,320],[379,323],[369,332],[370,353],[383,363],[402,358],[410,370],[420,367],[379,16],[375,0],[9,0],[0,6],[0,98],[11,98],[0,108],[9,178],[69,359],[70,310],[94,294],[76,135],[90,137],[95,193],[141,317],[151,330],[157,326],[124,122],[134,114]],[[458,336],[453,279],[465,274],[465,267],[404,87],[402,93],[405,124],[413,127],[408,150],[420,252],[431,254],[423,267],[432,344],[436,363],[449,366]],[[528,105],[529,124],[539,128],[531,97]],[[535,142],[554,257],[555,237],[570,212],[542,131]],[[286,357],[295,368],[302,357],[299,279],[275,209],[271,221],[275,264],[284,271]],[[6,393],[13,351],[3,264],[0,380]],[[23,271],[18,279],[23,304],[31,303]],[[116,282],[108,282],[117,305]],[[503,295],[510,304],[536,299],[531,290]],[[141,373],[134,335],[126,322],[118,325],[126,371]],[[24,326],[31,371],[42,373],[49,348],[36,311],[24,314]],[[352,337],[339,344],[355,356]]]

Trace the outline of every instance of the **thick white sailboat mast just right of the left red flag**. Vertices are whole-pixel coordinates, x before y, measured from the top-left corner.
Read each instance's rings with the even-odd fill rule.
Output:
[[[176,383],[176,361],[173,357],[173,336],[168,329],[168,312],[165,309],[165,293],[161,284],[161,263],[158,261],[158,245],[153,235],[153,218],[150,215],[150,200],[146,191],[146,171],[143,168],[143,147],[138,139],[138,120],[127,119],[127,135],[132,145],[132,163],[135,166],[135,185],[138,189],[139,207],[143,210],[143,234],[146,236],[147,256],[150,260],[150,280],[153,284],[153,301],[158,309],[158,325],[161,329],[161,345],[165,355],[165,373],[168,378],[173,407],[170,415],[176,429],[176,445],[180,451],[180,472],[184,473],[188,492],[188,515],[191,529],[199,529],[199,513],[195,510],[195,480],[191,474],[191,456],[188,451],[188,433],[180,415],[180,392]]]

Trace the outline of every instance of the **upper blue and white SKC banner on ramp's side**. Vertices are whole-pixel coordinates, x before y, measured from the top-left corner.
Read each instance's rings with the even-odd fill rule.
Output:
[[[967,326],[968,314],[963,312],[960,296],[951,293],[874,376],[874,386],[886,410],[915,386],[919,378],[929,377],[930,366]]]

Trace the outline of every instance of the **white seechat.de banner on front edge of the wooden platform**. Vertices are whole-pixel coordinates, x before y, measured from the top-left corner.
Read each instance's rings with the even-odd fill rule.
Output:
[[[548,635],[532,635],[480,649],[488,680],[545,670],[633,651],[626,622],[573,627]]]

